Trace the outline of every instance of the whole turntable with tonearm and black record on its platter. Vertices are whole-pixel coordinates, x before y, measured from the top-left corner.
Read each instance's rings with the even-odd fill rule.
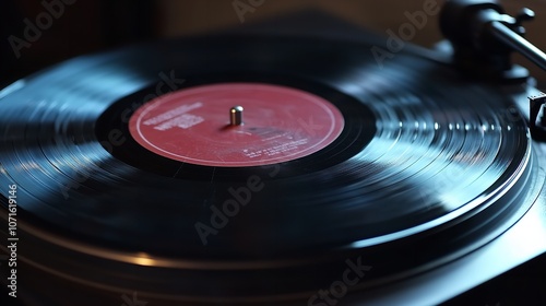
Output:
[[[452,51],[251,30],[13,83],[8,301],[435,305],[544,254],[531,16],[449,1]]]

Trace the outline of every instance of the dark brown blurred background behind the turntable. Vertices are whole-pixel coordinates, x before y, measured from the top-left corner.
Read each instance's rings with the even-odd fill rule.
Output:
[[[436,0],[442,4],[444,0]],[[301,10],[321,10],[357,26],[384,34],[407,22],[405,12],[426,0],[1,0],[0,86],[64,59],[144,40],[204,34],[275,19]],[[546,1],[503,0],[509,13],[535,10],[529,39],[546,50]],[[236,9],[237,8],[237,9]],[[28,32],[33,24],[38,33]],[[25,30],[28,37],[25,38]],[[34,35],[34,36],[33,36]],[[37,37],[37,38],[36,38]],[[430,47],[441,39],[437,16],[412,43]],[[520,60],[524,66],[529,62]],[[534,69],[546,81],[546,73]]]

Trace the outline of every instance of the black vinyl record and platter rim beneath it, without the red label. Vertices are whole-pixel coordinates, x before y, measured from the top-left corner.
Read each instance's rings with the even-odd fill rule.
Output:
[[[491,239],[526,209],[524,120],[448,64],[410,52],[378,62],[372,47],[192,38],[14,83],[0,93],[0,184],[19,188],[29,248],[51,250],[27,260],[109,290],[254,301],[312,292],[347,258],[373,267],[366,285]],[[328,101],[343,129],[317,152],[253,166],[180,162],[130,131],[162,95],[241,83]]]

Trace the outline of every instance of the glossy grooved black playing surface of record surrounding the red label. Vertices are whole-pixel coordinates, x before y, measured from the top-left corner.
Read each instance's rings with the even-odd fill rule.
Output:
[[[337,105],[346,129],[322,152],[280,165],[273,178],[272,168],[161,161],[129,150],[128,133],[114,154],[132,158],[110,155],[97,130],[116,122],[97,118],[171,71],[183,86],[209,78],[290,83],[283,75],[297,75],[307,83],[293,86],[316,89]],[[229,74],[237,76],[222,76]],[[526,126],[494,91],[461,85],[429,61],[397,55],[380,69],[367,46],[318,40],[198,39],[83,57],[28,78],[1,99],[2,183],[17,184],[21,209],[45,223],[129,249],[145,239],[150,250],[179,254],[199,252],[194,223],[209,221],[209,207],[229,199],[229,187],[258,175],[263,190],[210,248],[247,256],[342,246],[465,209],[520,167]]]

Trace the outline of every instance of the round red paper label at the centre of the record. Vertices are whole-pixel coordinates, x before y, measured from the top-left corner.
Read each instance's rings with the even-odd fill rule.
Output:
[[[238,106],[242,110],[232,114]],[[254,83],[177,91],[146,103],[129,121],[131,136],[145,149],[175,161],[218,167],[304,157],[332,143],[343,127],[341,111],[317,95]]]

